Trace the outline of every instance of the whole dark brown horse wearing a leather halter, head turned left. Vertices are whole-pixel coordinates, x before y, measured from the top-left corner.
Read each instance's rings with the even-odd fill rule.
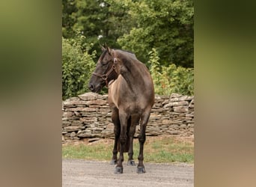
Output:
[[[115,126],[115,144],[111,162],[117,164],[115,174],[123,173],[124,153],[127,151],[128,165],[135,165],[132,158],[132,141],[135,126],[138,125],[139,120],[141,122],[138,135],[140,147],[137,173],[145,173],[143,147],[146,140],[147,121],[154,103],[153,81],[150,73],[131,52],[110,49],[106,46],[89,82],[89,88],[93,92],[99,92],[104,86],[109,87],[108,100]]]

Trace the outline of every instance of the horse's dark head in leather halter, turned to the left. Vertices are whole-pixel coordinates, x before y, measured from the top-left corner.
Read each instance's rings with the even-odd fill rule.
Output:
[[[100,92],[104,86],[108,86],[109,82],[113,79],[118,78],[118,73],[115,70],[114,58],[113,58],[113,49],[110,49],[108,46],[106,48],[102,47],[103,53],[100,55],[100,58],[97,62],[97,66],[92,73],[89,89],[92,92]]]

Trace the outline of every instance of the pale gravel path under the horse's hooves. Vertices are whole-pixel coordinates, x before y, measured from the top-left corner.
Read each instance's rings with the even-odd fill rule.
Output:
[[[189,187],[194,183],[194,167],[187,164],[144,163],[146,173],[124,163],[124,174],[114,174],[109,162],[62,160],[62,186],[140,186]]]

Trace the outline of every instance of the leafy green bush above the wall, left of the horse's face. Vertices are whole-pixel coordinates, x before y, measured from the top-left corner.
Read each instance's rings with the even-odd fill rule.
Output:
[[[85,37],[77,34],[74,39],[62,37],[62,98],[77,96],[88,91],[88,81],[94,70],[95,53],[88,54],[91,46]],[[85,49],[85,50],[84,50]]]

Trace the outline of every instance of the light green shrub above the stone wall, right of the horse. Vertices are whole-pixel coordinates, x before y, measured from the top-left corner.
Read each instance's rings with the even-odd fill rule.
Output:
[[[170,64],[168,67],[160,67],[156,49],[152,49],[149,55],[150,73],[153,78],[156,94],[194,94],[194,70],[192,68],[177,67],[175,64]]]

